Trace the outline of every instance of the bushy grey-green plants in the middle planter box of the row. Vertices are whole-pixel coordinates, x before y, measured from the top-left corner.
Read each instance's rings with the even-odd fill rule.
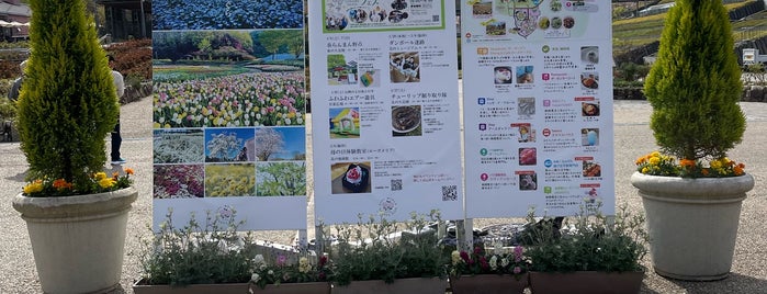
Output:
[[[371,215],[365,222],[360,215],[356,225],[337,225],[338,241],[328,247],[335,264],[331,281],[348,285],[352,281],[443,278],[449,257],[438,245],[437,231],[428,229],[429,223],[439,220],[439,213],[432,211],[411,213],[402,224],[382,215]],[[410,231],[397,234],[401,229]]]

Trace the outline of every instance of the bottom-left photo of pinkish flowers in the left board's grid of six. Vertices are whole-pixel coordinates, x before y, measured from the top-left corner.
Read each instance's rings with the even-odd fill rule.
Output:
[[[204,195],[202,165],[156,165],[156,199],[194,199]]]

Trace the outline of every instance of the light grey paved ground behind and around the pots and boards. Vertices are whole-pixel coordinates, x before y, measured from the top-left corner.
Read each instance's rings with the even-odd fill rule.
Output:
[[[140,273],[137,260],[139,240],[146,237],[151,218],[151,99],[145,98],[122,108],[123,157],[136,171],[139,199],[128,220],[122,289],[113,293],[133,293],[131,284]],[[767,293],[767,103],[743,103],[748,116],[745,138],[730,155],[746,163],[756,179],[755,189],[743,203],[735,260],[729,279],[692,283],[663,279],[652,271],[645,275],[642,293]],[[633,161],[655,148],[647,121],[650,106],[643,101],[614,103],[616,191],[619,203],[641,212],[641,200],[629,183]],[[311,132],[307,132],[311,133]],[[109,149],[109,147],[108,147]],[[105,167],[106,168],[106,167]],[[26,161],[18,143],[0,143],[0,293],[40,293],[41,287],[24,222],[11,206],[11,199],[24,184]],[[312,170],[311,167],[307,170]],[[311,179],[309,179],[311,180]],[[311,182],[309,182],[311,186]],[[508,219],[476,219],[486,226]],[[259,238],[287,242],[294,233],[260,233]],[[309,237],[313,231],[309,230]],[[702,244],[701,246],[706,246]],[[650,258],[645,260],[650,267]]]

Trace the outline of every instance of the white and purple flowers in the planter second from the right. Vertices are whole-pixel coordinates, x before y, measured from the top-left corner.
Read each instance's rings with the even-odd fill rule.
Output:
[[[492,251],[486,250],[484,246],[475,246],[471,252],[454,250],[448,272],[456,278],[462,274],[512,274],[520,279],[529,265],[523,251],[521,246],[504,248],[500,244]]]

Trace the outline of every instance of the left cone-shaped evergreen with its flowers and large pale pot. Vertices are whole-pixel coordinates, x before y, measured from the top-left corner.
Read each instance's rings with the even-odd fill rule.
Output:
[[[27,185],[13,199],[26,220],[46,293],[120,285],[127,212],[136,200],[127,170],[103,172],[104,138],[117,97],[95,26],[80,0],[30,1],[31,56],[18,101]]]

